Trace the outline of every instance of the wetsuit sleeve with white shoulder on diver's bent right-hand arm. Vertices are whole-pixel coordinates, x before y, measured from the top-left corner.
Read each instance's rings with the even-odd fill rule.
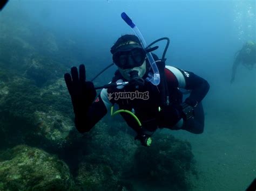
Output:
[[[186,98],[187,104],[195,107],[203,100],[210,88],[210,85],[205,79],[192,72],[175,67],[166,66],[166,69],[169,70],[169,74],[167,73],[169,75],[167,76],[168,81],[171,81],[178,88],[191,90],[190,96]]]

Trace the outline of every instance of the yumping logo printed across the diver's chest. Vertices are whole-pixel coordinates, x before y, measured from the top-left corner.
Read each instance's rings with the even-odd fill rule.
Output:
[[[139,91],[133,91],[133,92],[114,92],[114,93],[108,93],[107,97],[109,100],[112,100],[114,95],[114,100],[119,100],[119,99],[142,99],[142,100],[149,100],[149,91],[145,92],[139,92]]]

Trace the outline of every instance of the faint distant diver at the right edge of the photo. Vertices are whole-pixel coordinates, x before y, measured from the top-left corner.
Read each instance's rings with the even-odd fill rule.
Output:
[[[244,46],[235,53],[235,60],[232,67],[231,83],[234,82],[235,73],[237,72],[237,67],[242,64],[249,69],[252,69],[256,63],[256,44],[252,41],[247,41]]]

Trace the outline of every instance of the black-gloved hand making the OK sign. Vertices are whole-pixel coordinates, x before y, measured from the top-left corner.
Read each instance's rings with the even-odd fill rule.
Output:
[[[83,114],[92,104],[96,97],[96,90],[92,82],[86,82],[85,66],[79,66],[79,76],[77,67],[71,68],[71,75],[64,75],[66,87],[71,96],[75,115]]]

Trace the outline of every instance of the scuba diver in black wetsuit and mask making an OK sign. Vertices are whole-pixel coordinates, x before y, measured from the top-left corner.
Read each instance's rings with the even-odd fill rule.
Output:
[[[152,76],[152,66],[146,54],[156,48],[143,48],[133,34],[120,37],[111,47],[113,63],[118,70],[97,98],[98,88],[86,81],[84,65],[79,66],[79,72],[77,67],[72,67],[71,75],[64,75],[75,112],[75,125],[80,133],[90,131],[107,112],[113,114],[113,104],[118,104],[116,112],[137,132],[135,139],[144,146],[151,144],[151,136],[157,128],[203,132],[201,101],[210,88],[208,82],[192,72],[165,66],[165,60],[153,54],[161,76],[159,85],[155,86],[148,79]],[[184,102],[180,88],[191,90]]]

